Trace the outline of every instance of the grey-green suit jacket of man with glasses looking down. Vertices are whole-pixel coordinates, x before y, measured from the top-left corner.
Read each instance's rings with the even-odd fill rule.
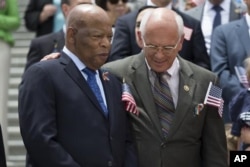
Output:
[[[139,109],[130,114],[140,167],[227,167],[224,123],[218,109],[204,106],[194,116],[195,107],[204,102],[209,82],[216,76],[181,57],[178,102],[175,118],[165,139],[154,103],[143,53],[107,63],[103,68],[125,78]],[[186,87],[186,89],[185,89]]]

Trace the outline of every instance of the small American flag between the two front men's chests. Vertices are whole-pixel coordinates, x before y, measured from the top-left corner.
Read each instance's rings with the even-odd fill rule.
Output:
[[[123,81],[122,84],[122,101],[125,102],[125,109],[135,115],[139,115],[139,111],[136,108],[135,99],[132,96],[128,84]]]

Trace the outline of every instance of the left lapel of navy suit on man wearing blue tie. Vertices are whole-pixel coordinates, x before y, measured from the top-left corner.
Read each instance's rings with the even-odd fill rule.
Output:
[[[102,108],[97,101],[94,93],[91,91],[87,81],[84,79],[80,71],[75,66],[74,62],[64,53],[61,52],[61,63],[65,65],[65,72],[72,78],[72,80],[80,87],[83,93],[90,99],[94,106],[100,111],[103,116]]]

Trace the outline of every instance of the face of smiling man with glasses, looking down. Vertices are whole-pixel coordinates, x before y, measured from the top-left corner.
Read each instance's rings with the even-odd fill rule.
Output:
[[[169,27],[169,25],[165,28],[157,27],[157,25],[151,28],[146,27],[146,33],[142,37],[145,57],[155,72],[168,70],[182,47],[183,37],[179,37],[176,31],[177,25]]]

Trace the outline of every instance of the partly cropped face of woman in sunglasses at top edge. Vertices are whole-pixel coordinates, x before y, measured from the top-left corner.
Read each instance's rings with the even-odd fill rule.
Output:
[[[122,16],[128,12],[127,0],[108,0],[107,9],[116,16]]]

